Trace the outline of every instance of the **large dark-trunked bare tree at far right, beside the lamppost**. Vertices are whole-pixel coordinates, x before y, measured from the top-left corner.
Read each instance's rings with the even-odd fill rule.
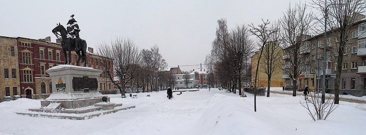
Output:
[[[335,37],[335,49],[338,51],[337,69],[342,69],[344,55],[346,46],[354,44],[357,40],[352,39],[352,32],[354,32],[355,26],[357,26],[362,15],[361,13],[366,11],[366,1],[365,0],[313,0],[315,8],[319,11],[325,11],[324,14],[317,17],[320,26],[328,26],[331,28],[330,35]],[[329,12],[329,14],[328,14]],[[323,12],[322,12],[323,13]],[[325,16],[325,17],[323,17]],[[324,18],[329,19],[326,21]],[[324,33],[328,34],[328,33]],[[335,104],[339,104],[339,87],[340,79],[342,75],[342,70],[337,70],[335,78]],[[322,97],[325,99],[324,97]]]

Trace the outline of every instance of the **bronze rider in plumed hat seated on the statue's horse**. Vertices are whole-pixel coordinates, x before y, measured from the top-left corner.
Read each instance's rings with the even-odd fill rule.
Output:
[[[80,46],[78,45],[78,41],[80,40],[79,37],[79,25],[77,23],[75,19],[74,19],[74,14],[72,14],[70,16],[69,21],[67,22],[67,33],[69,34],[68,37],[72,38],[74,40],[74,45],[75,45],[75,49],[78,50],[80,48]]]

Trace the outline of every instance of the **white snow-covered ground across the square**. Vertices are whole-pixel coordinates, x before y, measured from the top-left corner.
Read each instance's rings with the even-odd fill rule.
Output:
[[[0,134],[14,135],[365,135],[366,104],[340,102],[326,121],[312,121],[303,96],[271,93],[240,98],[218,89],[196,92],[138,93],[138,98],[108,95],[111,102],[136,108],[88,120],[17,115],[40,107],[39,100],[0,103]],[[146,97],[146,95],[151,95]]]

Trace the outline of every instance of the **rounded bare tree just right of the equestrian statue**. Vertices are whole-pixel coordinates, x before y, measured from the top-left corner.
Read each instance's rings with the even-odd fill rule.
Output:
[[[105,59],[104,62],[100,63],[103,70],[107,71],[109,79],[120,89],[121,96],[125,95],[125,86],[127,82],[136,75],[136,69],[141,62],[140,51],[135,43],[129,38],[116,38],[111,41],[111,44],[101,43],[98,46],[98,55],[104,58],[113,59],[113,67],[110,66],[112,61]],[[121,86],[117,85],[112,78],[113,72],[115,71],[115,77],[121,81]]]

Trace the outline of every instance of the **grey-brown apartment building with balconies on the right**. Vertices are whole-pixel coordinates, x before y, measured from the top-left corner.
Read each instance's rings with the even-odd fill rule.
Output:
[[[298,87],[309,86],[310,90],[322,87],[323,75],[326,77],[326,91],[334,93],[337,70],[342,70],[340,94],[354,94],[356,90],[366,87],[366,19],[360,15],[352,23],[352,35],[345,47],[342,69],[337,69],[338,45],[333,30],[327,32],[327,43],[324,47],[324,33],[306,39],[304,45],[310,45],[302,55],[304,73],[298,76]],[[323,74],[324,49],[326,49],[326,72]],[[286,48],[284,49],[286,52]],[[285,56],[285,55],[284,55]],[[284,60],[290,58],[284,57]],[[289,64],[285,62],[285,65]],[[284,65],[284,66],[285,66]],[[284,69],[285,70],[285,69]],[[286,89],[291,89],[292,81],[284,75]]]

